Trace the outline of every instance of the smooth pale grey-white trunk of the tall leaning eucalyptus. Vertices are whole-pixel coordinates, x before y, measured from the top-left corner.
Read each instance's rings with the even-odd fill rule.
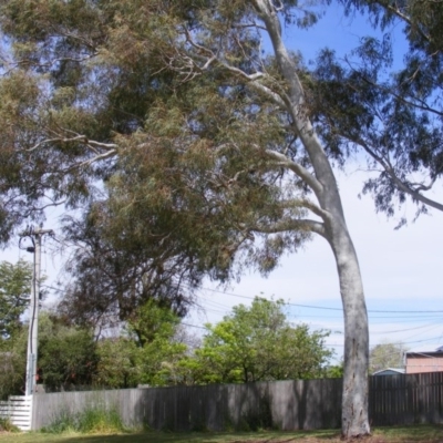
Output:
[[[357,253],[346,224],[340,194],[328,156],[306,113],[305,92],[290,54],[281,39],[278,10],[270,0],[253,0],[269,33],[274,52],[288,91],[281,96],[311,161],[313,174],[295,168],[316,194],[323,220],[318,230],[330,244],[336,257],[344,313],[344,380],[342,396],[342,434],[346,437],[370,433],[368,419],[369,331],[363,285]],[[337,405],[339,406],[339,405]]]

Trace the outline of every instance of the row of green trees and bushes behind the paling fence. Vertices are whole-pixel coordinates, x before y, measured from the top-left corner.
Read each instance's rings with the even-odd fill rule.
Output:
[[[25,261],[0,265],[0,394],[23,389],[28,326],[22,316],[30,292]],[[332,351],[328,331],[291,324],[282,300],[256,297],[250,307],[233,308],[202,339],[189,336],[171,307],[150,300],[113,332],[97,337],[84,318],[43,310],[39,320],[39,383],[49,390],[73,387],[109,389],[137,384],[243,383],[311,379],[328,374]],[[103,331],[102,331],[103,332]]]

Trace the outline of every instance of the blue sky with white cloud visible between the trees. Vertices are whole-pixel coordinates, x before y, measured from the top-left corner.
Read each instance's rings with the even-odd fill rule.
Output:
[[[321,25],[313,30],[285,29],[288,47],[300,47],[307,60],[328,45],[339,53],[349,52],[358,44],[359,35],[373,33],[364,19],[346,18],[338,7],[331,7]],[[324,25],[326,24],[326,25]],[[399,41],[400,30],[393,31]],[[396,35],[396,37],[395,37]],[[346,217],[357,248],[369,310],[370,344],[383,341],[402,342],[414,350],[434,350],[443,344],[443,303],[441,251],[443,250],[443,213],[430,210],[413,222],[415,207],[409,202],[398,212],[398,218],[387,219],[377,214],[370,196],[359,198],[368,174],[358,162],[346,172],[337,172]],[[443,202],[443,189],[434,197]],[[56,231],[55,210],[49,213],[45,228]],[[395,230],[400,216],[408,226]],[[17,244],[0,251],[0,260],[17,261],[32,257],[19,251]],[[43,271],[51,284],[60,270],[61,258],[51,257],[43,248]],[[343,321],[334,259],[329,245],[315,238],[303,250],[284,257],[280,266],[268,278],[247,272],[239,284],[227,288],[207,281],[198,293],[198,307],[185,320],[193,330],[203,333],[205,322],[217,322],[235,305],[249,305],[255,296],[284,299],[288,303],[290,321],[306,322],[311,329],[328,329],[329,347],[336,351],[336,361],[342,356]]]

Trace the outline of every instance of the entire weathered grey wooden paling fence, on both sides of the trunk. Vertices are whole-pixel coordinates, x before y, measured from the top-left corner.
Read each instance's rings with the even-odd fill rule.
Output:
[[[372,425],[443,422],[443,372],[370,378]],[[341,379],[37,394],[32,429],[87,408],[155,430],[340,427]]]

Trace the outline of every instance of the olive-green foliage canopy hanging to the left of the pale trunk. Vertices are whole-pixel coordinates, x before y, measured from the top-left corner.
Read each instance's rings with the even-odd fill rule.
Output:
[[[292,3],[285,13],[296,22]],[[187,79],[186,52],[198,58],[184,41],[189,28],[200,43],[220,38],[219,54],[236,69],[266,62],[282,91],[275,64],[261,60],[259,32],[234,25],[255,16],[251,4],[217,3],[219,16],[213,7],[39,0],[24,12],[1,2],[13,54],[2,79],[10,104],[0,120],[11,134],[0,192],[16,196],[3,205],[4,238],[45,204],[82,206],[82,220],[66,219],[79,245],[68,311],[91,319],[115,309],[126,319],[148,297],[185,311],[203,275],[233,277],[239,249],[239,262],[266,274],[317,227],[303,219],[316,210],[308,187],[267,152],[308,164],[287,113],[223,64]],[[303,12],[300,24],[313,17]]]

